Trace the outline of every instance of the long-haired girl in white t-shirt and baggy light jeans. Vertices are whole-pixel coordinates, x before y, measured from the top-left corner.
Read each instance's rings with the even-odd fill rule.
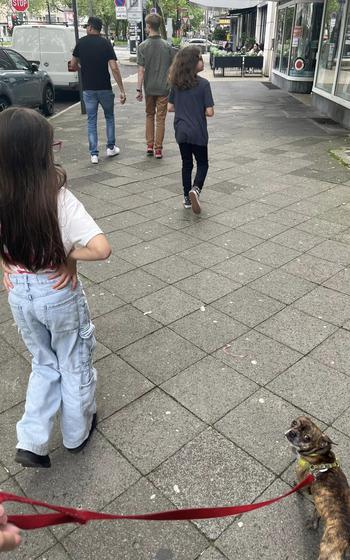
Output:
[[[51,465],[57,412],[73,453],[96,425],[94,326],[76,265],[110,254],[100,228],[65,187],[53,145],[53,128],[39,113],[0,113],[0,255],[12,314],[32,355],[15,460],[35,468]]]

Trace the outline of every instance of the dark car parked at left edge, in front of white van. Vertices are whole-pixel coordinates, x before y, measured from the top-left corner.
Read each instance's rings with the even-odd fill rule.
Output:
[[[48,73],[13,49],[0,47],[0,111],[20,105],[39,107],[44,115],[50,116],[54,102],[54,87]]]

